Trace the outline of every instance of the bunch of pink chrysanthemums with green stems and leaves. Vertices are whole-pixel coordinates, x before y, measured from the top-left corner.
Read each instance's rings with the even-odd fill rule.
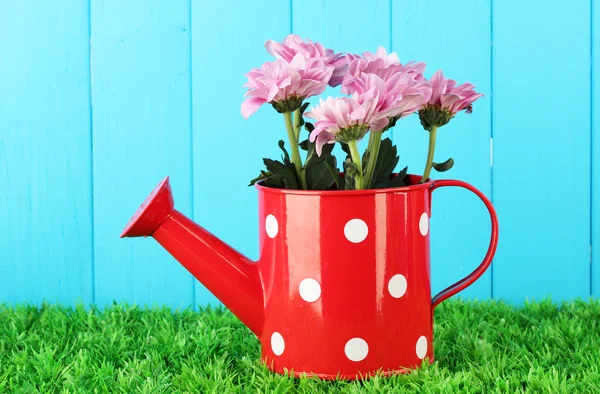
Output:
[[[416,113],[429,132],[429,149],[420,183],[432,169],[449,170],[454,160],[434,161],[436,134],[460,111],[472,112],[472,104],[483,95],[474,85],[457,85],[441,70],[431,79],[423,76],[423,62],[400,63],[396,53],[379,47],[373,54],[336,53],[318,42],[290,34],[283,42],[265,44],[273,61],[246,74],[248,87],[241,106],[248,119],[263,104],[283,114],[291,157],[283,140],[282,161],[263,159],[265,170],[250,181],[265,186],[300,190],[360,190],[407,185],[407,168],[398,174],[397,148],[386,131]],[[340,87],[341,97],[320,99],[306,111],[308,98],[330,87]],[[305,118],[311,119],[309,122]],[[302,137],[303,130],[308,138]],[[361,154],[358,143],[368,136]],[[340,171],[333,155],[336,143],[346,153]],[[304,151],[304,159],[301,151]]]

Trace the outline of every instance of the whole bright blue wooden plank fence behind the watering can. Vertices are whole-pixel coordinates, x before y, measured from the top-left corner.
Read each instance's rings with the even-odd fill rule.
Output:
[[[600,20],[593,0],[79,0],[0,5],[0,302],[186,307],[214,297],[153,240],[120,239],[171,176],[176,206],[258,257],[262,157],[280,116],[240,115],[244,74],[290,32],[338,52],[425,61],[472,82],[474,113],[441,130],[447,177],[492,198],[493,266],[465,297],[520,303],[600,293]],[[326,93],[333,93],[327,91]],[[311,102],[315,102],[313,99]],[[393,132],[420,171],[427,135]],[[493,143],[492,143],[493,141]],[[215,176],[227,182],[214,183]],[[436,175],[439,178],[439,174]],[[489,218],[461,190],[432,217],[437,291],[485,254]]]

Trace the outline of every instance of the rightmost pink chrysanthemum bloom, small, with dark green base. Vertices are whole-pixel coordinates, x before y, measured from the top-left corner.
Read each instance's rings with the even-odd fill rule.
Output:
[[[421,124],[427,130],[432,126],[443,126],[458,112],[473,111],[472,104],[483,94],[475,91],[475,85],[463,83],[456,85],[456,81],[447,79],[441,70],[436,71],[430,79],[431,97],[419,111]]]

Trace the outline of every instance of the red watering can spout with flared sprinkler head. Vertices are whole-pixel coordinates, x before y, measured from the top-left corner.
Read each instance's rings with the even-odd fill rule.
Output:
[[[121,234],[148,236],[260,337],[264,309],[256,263],[174,209],[169,177],[150,193]]]

